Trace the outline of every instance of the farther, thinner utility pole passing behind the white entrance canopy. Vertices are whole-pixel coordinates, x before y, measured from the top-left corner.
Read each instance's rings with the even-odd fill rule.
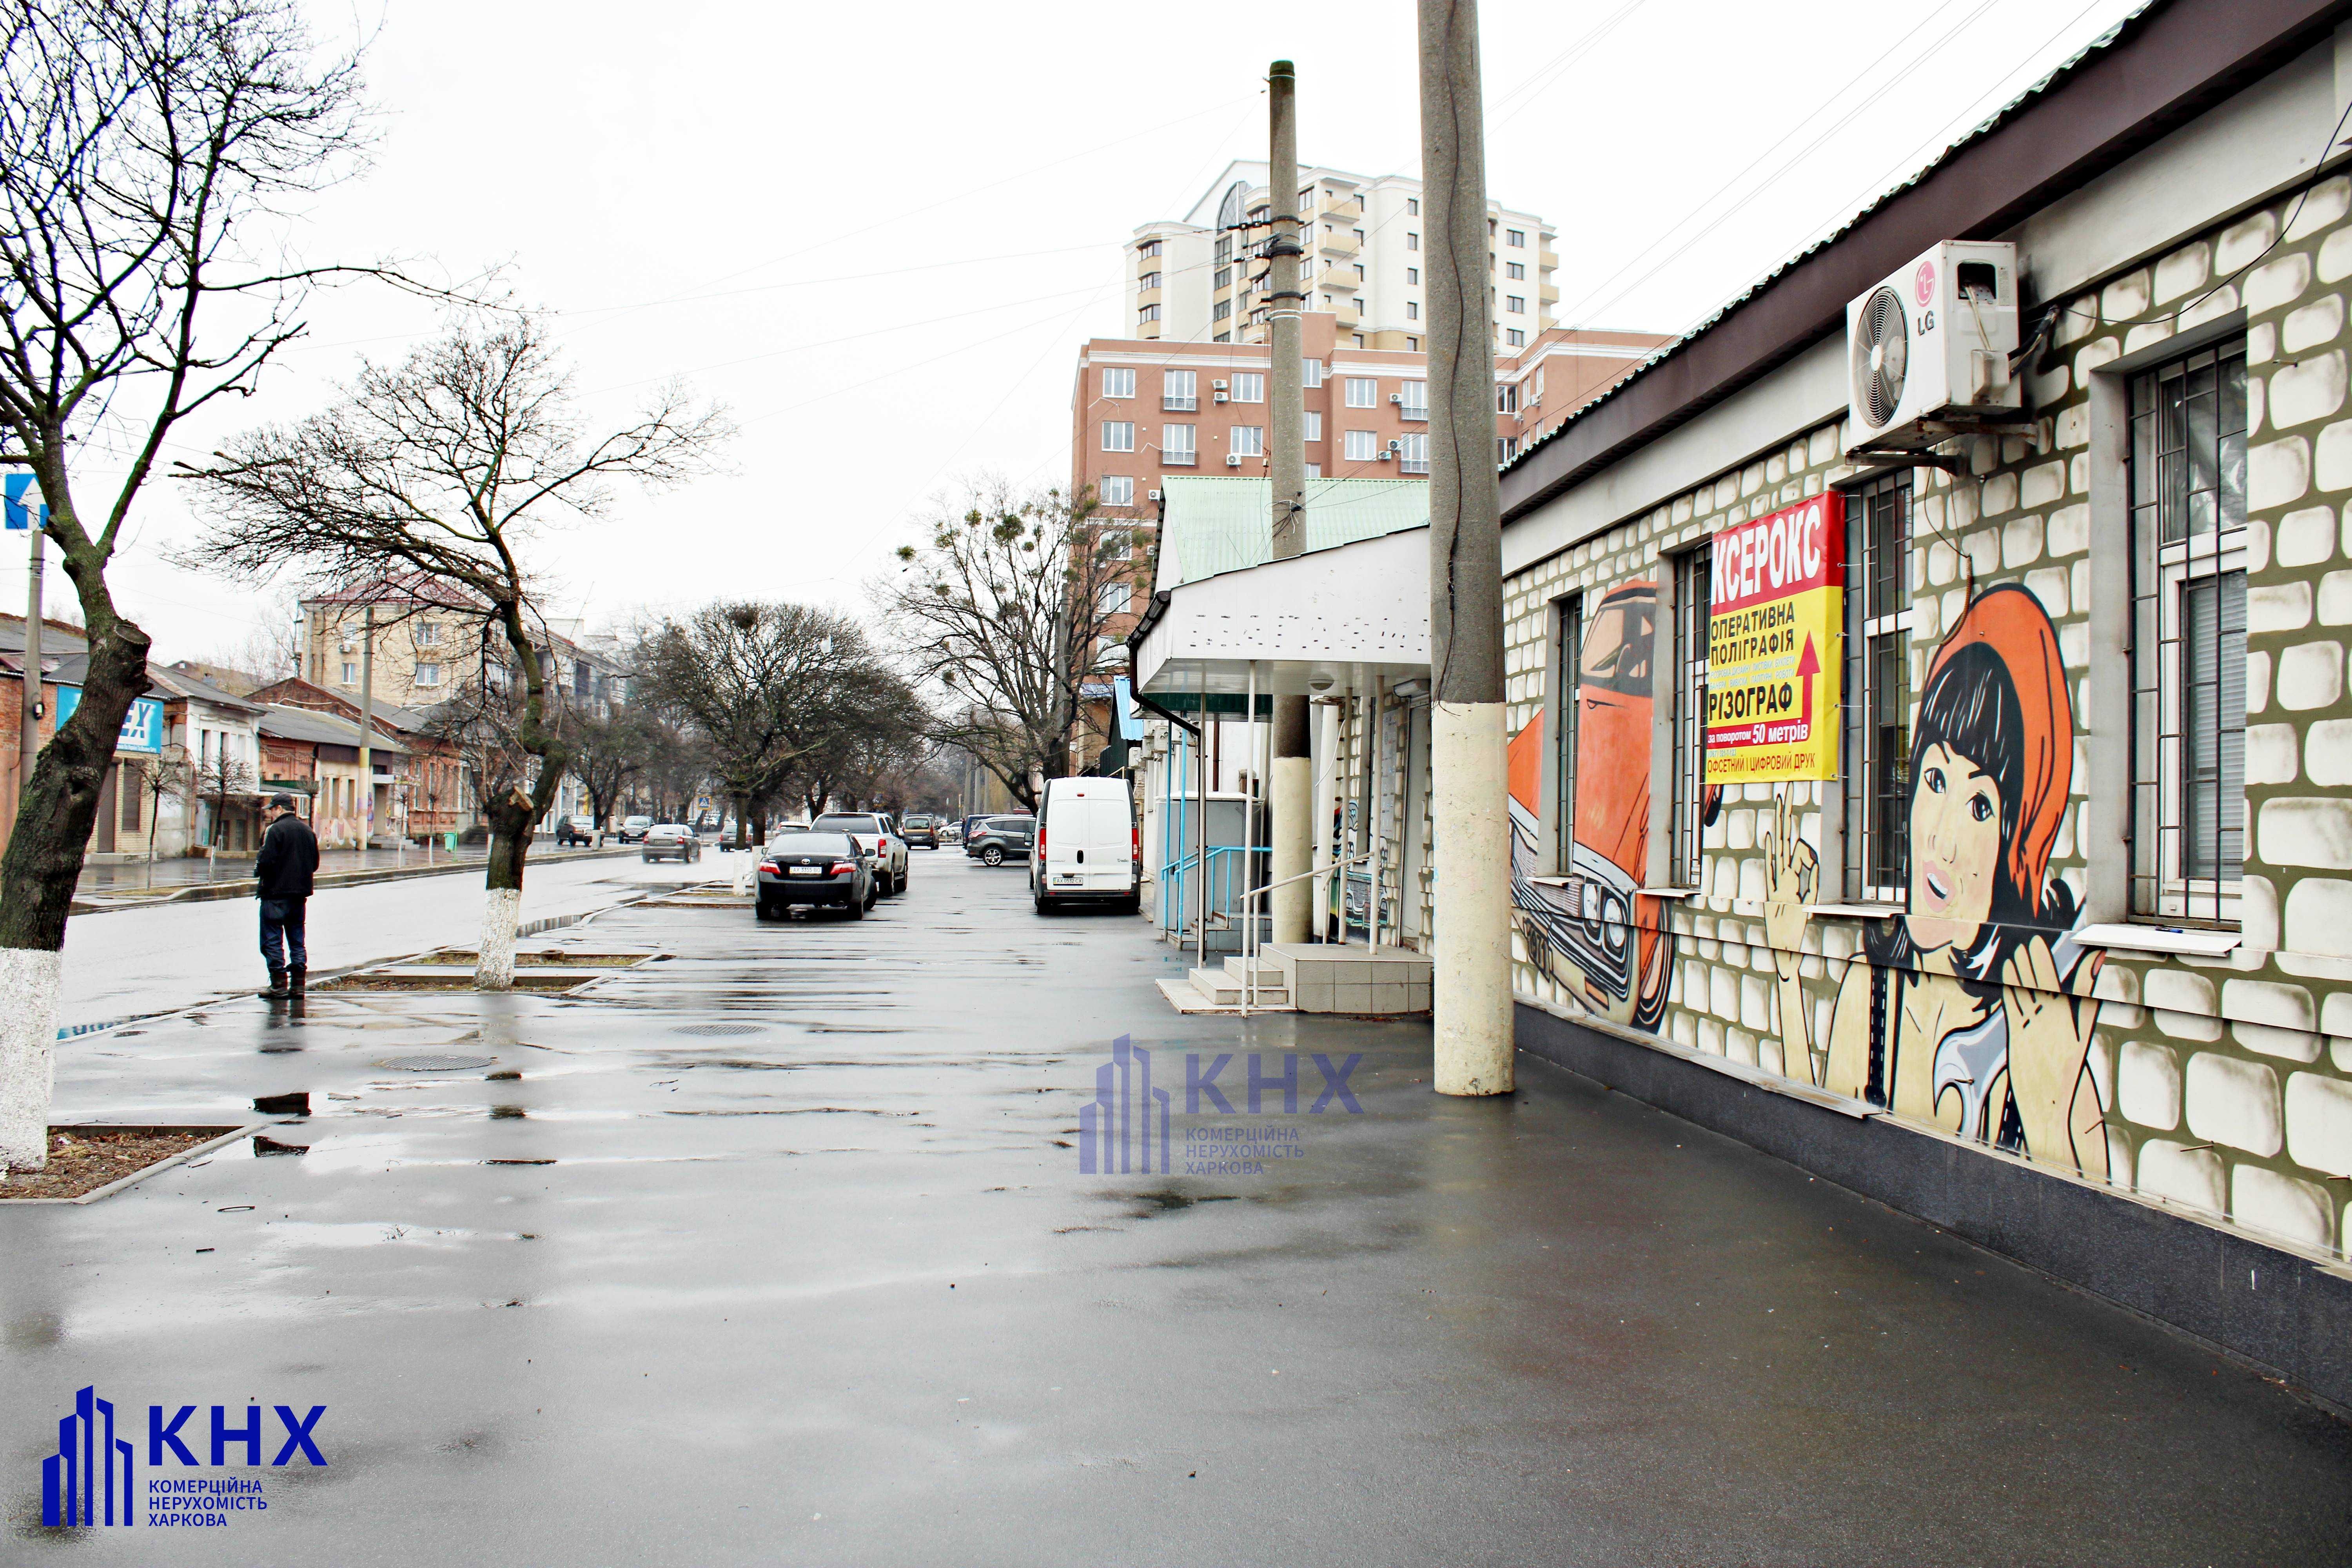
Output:
[[[1298,78],[1291,61],[1277,59],[1265,73],[1265,103],[1272,132],[1272,158],[1265,174],[1265,207],[1275,221],[1272,240],[1265,247],[1268,336],[1272,355],[1272,404],[1268,418],[1272,428],[1272,475],[1275,559],[1284,562],[1305,550],[1308,543],[1308,393],[1305,393],[1305,341],[1298,313],[1305,308],[1305,292],[1298,287]],[[1256,724],[1258,715],[1249,715]],[[1310,882],[1289,882],[1312,865],[1315,853],[1315,764],[1308,755],[1308,698],[1275,696],[1275,764],[1272,785],[1272,870],[1277,886],[1272,903],[1272,938],[1277,943],[1308,940],[1308,905],[1315,898]]]

